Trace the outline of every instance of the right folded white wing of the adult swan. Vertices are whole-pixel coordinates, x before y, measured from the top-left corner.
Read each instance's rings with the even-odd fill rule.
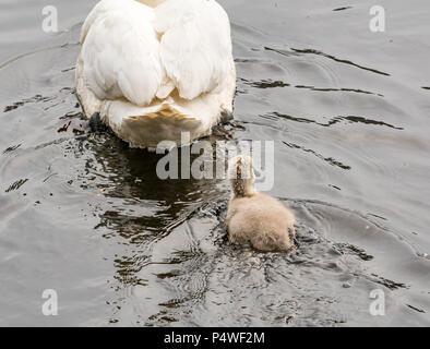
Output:
[[[230,28],[226,12],[213,0],[166,1],[155,9],[163,34],[160,56],[167,76],[182,98],[219,87],[229,73]]]

